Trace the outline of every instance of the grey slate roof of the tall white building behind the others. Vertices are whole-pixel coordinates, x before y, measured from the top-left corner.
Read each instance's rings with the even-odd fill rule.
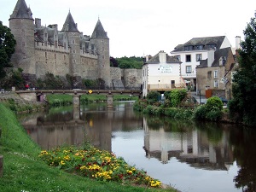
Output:
[[[178,44],[172,52],[184,51],[185,46],[203,45],[203,49],[207,50],[207,45],[213,45],[219,49],[224,41],[225,36],[205,37],[205,38],[191,38],[185,44]]]

